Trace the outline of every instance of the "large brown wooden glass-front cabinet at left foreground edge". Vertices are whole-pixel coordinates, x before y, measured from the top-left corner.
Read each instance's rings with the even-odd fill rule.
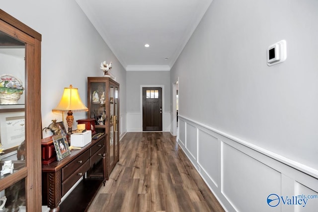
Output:
[[[41,34],[0,9],[0,198],[41,212]]]

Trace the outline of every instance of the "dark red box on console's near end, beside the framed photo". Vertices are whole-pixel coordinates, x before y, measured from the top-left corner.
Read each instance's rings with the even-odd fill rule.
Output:
[[[52,136],[41,140],[42,164],[48,165],[56,161],[56,152]]]

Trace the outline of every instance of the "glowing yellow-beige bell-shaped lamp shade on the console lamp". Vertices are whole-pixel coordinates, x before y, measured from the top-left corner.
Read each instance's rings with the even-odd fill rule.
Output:
[[[73,112],[88,111],[88,108],[80,100],[78,88],[73,88],[72,85],[64,88],[60,103],[52,110],[52,112],[64,112],[70,110]]]

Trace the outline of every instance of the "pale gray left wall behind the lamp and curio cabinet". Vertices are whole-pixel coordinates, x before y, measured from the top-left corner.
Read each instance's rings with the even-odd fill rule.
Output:
[[[121,86],[120,115],[126,121],[126,71],[75,0],[10,0],[1,2],[1,9],[42,34],[43,127],[52,119],[62,120],[62,115],[52,113],[52,109],[59,103],[64,87],[72,84],[79,88],[81,100],[87,104],[87,76],[102,76],[102,61],[113,62],[111,72]],[[73,115],[75,120],[87,117],[86,112]]]

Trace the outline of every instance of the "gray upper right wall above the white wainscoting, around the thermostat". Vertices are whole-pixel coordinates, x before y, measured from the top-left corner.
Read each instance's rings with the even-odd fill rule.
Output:
[[[318,170],[317,11],[317,0],[214,0],[171,70],[179,114]],[[268,67],[282,39],[287,60]]]

